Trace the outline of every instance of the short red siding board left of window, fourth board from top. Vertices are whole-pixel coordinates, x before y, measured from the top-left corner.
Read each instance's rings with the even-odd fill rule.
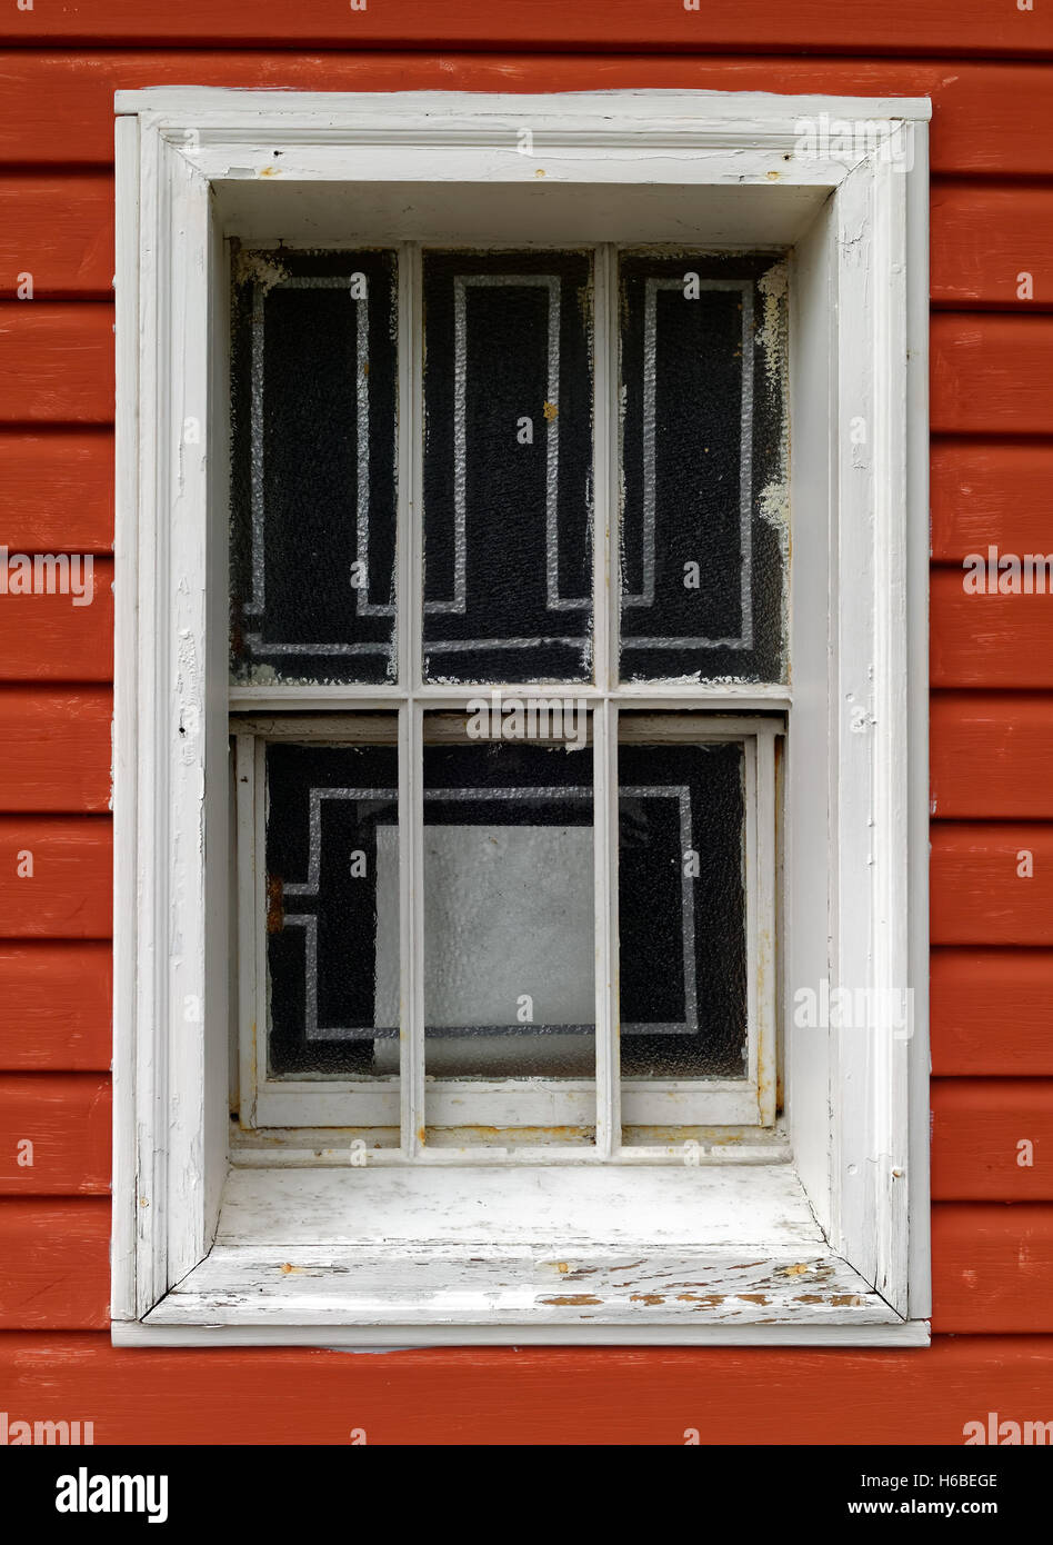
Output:
[[[113,306],[0,303],[0,420],[111,423]]]

